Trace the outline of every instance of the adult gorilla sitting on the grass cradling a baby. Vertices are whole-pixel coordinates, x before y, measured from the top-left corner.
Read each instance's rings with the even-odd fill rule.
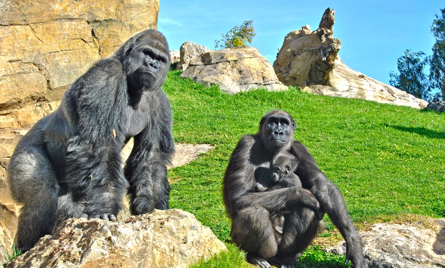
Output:
[[[316,237],[324,212],[346,240],[346,262],[366,267],[363,245],[346,211],[343,196],[317,166],[307,148],[294,140],[295,122],[290,114],[270,111],[255,135],[245,135],[233,151],[222,186],[226,212],[232,219],[232,240],[245,250],[248,261],[271,267],[295,267],[296,260]],[[262,177],[270,176],[270,162],[278,153],[295,157],[294,173],[301,187],[255,191]],[[284,214],[281,239],[277,239],[271,215]]]

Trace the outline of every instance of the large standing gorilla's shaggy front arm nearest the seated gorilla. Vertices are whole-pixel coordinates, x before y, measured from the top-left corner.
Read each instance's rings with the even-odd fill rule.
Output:
[[[128,194],[133,215],[168,209],[170,185],[166,165],[170,164],[174,154],[170,103],[161,90],[151,94],[158,96],[158,102],[151,103],[153,114],[148,126],[135,136],[124,168],[130,183]]]

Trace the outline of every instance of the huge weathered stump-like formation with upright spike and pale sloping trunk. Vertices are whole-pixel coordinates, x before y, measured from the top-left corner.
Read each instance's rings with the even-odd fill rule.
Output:
[[[334,15],[328,8],[317,30],[306,25],[286,35],[274,62],[280,81],[319,95],[425,108],[425,100],[353,71],[340,60],[340,40],[333,38]]]

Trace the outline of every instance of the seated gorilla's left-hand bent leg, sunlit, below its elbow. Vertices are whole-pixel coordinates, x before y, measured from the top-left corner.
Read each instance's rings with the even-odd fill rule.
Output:
[[[270,213],[261,206],[240,210],[232,219],[232,241],[248,252],[248,261],[270,267],[268,259],[277,253],[277,240]]]

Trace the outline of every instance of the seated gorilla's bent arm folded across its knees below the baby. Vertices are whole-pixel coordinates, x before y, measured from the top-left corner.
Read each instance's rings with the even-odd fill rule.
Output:
[[[224,200],[229,215],[251,206],[262,206],[270,212],[279,212],[297,205],[306,205],[318,211],[319,203],[310,191],[303,188],[283,188],[254,192],[255,165],[252,159],[261,157],[260,143],[256,136],[241,138],[230,158],[224,177]],[[261,160],[260,160],[261,161]]]

